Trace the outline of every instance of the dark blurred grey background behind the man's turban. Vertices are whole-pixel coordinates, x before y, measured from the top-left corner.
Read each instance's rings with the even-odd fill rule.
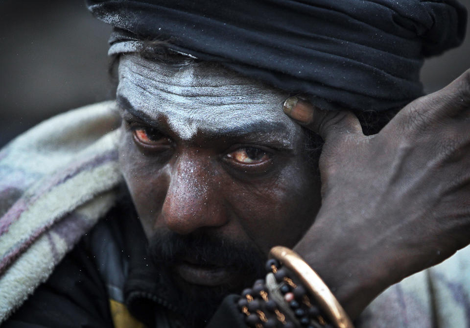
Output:
[[[470,0],[460,2],[470,9]],[[0,0],[0,147],[57,113],[113,99],[110,32],[84,0]],[[425,91],[468,68],[470,25],[462,47],[425,63]]]

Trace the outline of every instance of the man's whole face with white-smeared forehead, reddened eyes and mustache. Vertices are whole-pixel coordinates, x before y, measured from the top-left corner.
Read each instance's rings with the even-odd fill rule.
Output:
[[[262,268],[312,224],[320,185],[287,97],[211,63],[121,56],[122,173],[153,257],[181,284],[246,286],[245,262]]]

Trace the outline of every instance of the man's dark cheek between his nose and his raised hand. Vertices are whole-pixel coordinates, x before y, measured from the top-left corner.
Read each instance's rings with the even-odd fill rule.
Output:
[[[276,245],[293,247],[320,208],[320,183],[307,170],[286,167],[276,179],[235,184],[227,197],[240,225],[265,253]]]

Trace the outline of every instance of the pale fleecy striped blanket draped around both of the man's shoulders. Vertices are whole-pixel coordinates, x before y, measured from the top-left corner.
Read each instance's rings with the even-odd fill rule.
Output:
[[[118,125],[113,102],[98,103],[0,151],[0,324],[115,204]],[[391,286],[356,327],[470,327],[470,248]]]

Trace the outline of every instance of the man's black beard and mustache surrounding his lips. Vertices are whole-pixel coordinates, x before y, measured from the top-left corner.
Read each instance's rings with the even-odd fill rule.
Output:
[[[192,327],[204,327],[225,296],[240,293],[265,274],[266,256],[253,245],[222,239],[201,230],[188,235],[157,231],[149,240],[148,256],[172,280],[179,293],[178,305]],[[188,258],[192,265],[223,268],[234,279],[217,286],[189,283],[175,270]]]

